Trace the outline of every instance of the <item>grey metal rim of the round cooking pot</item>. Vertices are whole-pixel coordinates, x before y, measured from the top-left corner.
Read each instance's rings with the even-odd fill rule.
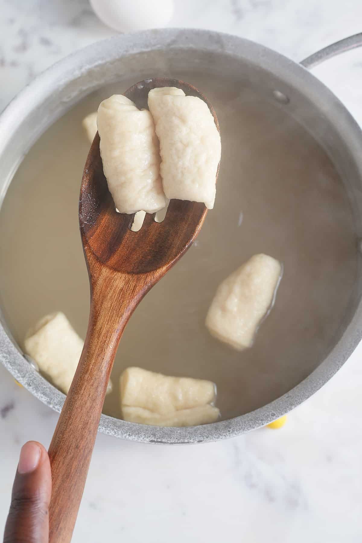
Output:
[[[345,106],[324,84],[309,73],[306,68],[272,49],[241,37],[198,29],[160,29],[118,35],[80,49],[56,62],[20,91],[0,116],[0,156],[9,139],[20,127],[24,117],[36,105],[41,104],[42,100],[48,97],[55,87],[64,86],[88,70],[119,59],[122,55],[166,47],[202,48],[209,52],[222,50],[225,54],[237,56],[240,59],[253,62],[253,64],[257,63],[266,71],[270,71],[270,60],[273,60],[273,64],[277,66],[277,75],[280,77],[288,73],[294,78],[294,85],[301,82],[306,84],[307,81],[311,90],[314,91],[314,102],[316,101],[315,91],[318,91],[320,98],[318,98],[317,105],[326,115],[334,111],[333,108],[337,108],[334,115],[340,116],[340,130],[357,164],[362,185],[362,157],[359,153],[359,149],[362,147],[362,131]],[[89,88],[87,90],[89,91]],[[78,95],[77,97],[80,98]],[[73,105],[70,102],[71,98],[69,106]],[[54,120],[54,118],[50,119],[49,125]],[[35,138],[38,136],[40,134],[35,134]],[[28,148],[32,144],[33,142],[30,142]],[[24,154],[14,167],[14,172],[23,156]],[[6,189],[7,186],[5,186],[2,197],[5,195]],[[325,360],[289,392],[255,411],[213,424],[182,428],[140,425],[102,414],[99,431],[123,439],[146,443],[190,444],[234,437],[265,426],[300,405],[329,381],[358,345],[362,337],[361,322],[362,304],[359,301],[344,333]],[[65,395],[31,368],[16,342],[13,343],[11,334],[7,333],[3,324],[0,324],[0,360],[31,394],[55,411],[61,411]]]

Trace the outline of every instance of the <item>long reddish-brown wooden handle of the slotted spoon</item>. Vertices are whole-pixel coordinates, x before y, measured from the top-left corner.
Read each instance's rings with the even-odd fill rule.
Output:
[[[115,353],[141,297],[126,288],[120,299],[120,286],[106,276],[92,288],[85,345],[49,447],[49,543],[72,539]]]

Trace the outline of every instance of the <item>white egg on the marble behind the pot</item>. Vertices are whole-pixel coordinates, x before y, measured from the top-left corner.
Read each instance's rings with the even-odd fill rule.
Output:
[[[163,28],[173,15],[173,0],[90,0],[95,14],[119,32]]]

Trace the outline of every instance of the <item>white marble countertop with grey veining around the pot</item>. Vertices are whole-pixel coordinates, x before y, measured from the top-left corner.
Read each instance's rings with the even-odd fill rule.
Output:
[[[300,60],[361,30],[360,0],[184,0],[172,26],[227,31]],[[0,0],[0,110],[35,74],[113,34],[87,0]],[[362,124],[362,49],[316,68]],[[362,345],[280,431],[151,446],[99,435],[74,541],[362,541]],[[20,446],[57,415],[0,368],[0,532]]]

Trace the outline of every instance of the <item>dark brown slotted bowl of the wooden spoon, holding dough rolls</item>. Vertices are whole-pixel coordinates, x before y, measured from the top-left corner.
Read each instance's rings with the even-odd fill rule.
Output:
[[[176,86],[187,96],[197,96],[204,100],[219,129],[215,110],[207,98],[196,87],[184,81],[145,79],[130,87],[124,95],[142,109],[147,107],[148,92],[165,86]],[[132,232],[134,213],[118,213],[108,191],[97,132],[83,173],[79,223],[83,247],[89,247],[99,262],[126,273],[141,274],[156,269],[164,269],[165,273],[190,247],[207,211],[203,203],[171,200],[162,223],[154,220],[154,214],[147,213],[143,227],[138,232]]]

